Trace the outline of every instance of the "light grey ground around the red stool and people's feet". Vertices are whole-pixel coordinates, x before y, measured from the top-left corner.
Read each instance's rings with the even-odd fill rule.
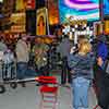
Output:
[[[0,95],[0,109],[39,109],[40,94],[35,83],[27,83],[26,87],[12,89],[7,86],[7,92]],[[96,106],[96,97],[90,88],[89,108]],[[71,89],[68,87],[59,87],[59,96],[57,109],[73,109]]]

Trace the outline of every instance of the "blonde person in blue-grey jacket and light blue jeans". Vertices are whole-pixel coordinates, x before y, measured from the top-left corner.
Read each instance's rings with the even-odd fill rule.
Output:
[[[78,52],[70,53],[68,64],[72,74],[72,109],[88,109],[88,89],[93,80],[93,64],[95,57],[92,52],[92,45],[86,38],[78,41]]]

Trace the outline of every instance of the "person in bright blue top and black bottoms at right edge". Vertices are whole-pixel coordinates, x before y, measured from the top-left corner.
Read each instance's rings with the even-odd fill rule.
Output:
[[[98,105],[102,109],[108,109],[109,107],[109,76],[107,75],[106,60],[108,57],[108,48],[106,45],[106,37],[100,35],[97,37],[97,48],[96,48],[97,64],[95,64],[95,86],[97,89]]]

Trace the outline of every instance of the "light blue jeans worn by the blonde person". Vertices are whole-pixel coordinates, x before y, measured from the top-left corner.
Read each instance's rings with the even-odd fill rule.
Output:
[[[74,109],[88,109],[88,88],[89,80],[84,77],[76,77],[72,80],[73,87],[73,107]]]

